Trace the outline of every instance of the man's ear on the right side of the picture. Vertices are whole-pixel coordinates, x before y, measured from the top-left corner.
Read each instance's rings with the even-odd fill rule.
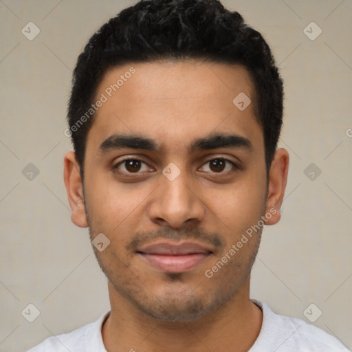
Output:
[[[267,190],[266,212],[272,217],[265,219],[265,225],[274,225],[281,219],[281,204],[287,183],[289,170],[289,153],[285,148],[278,148],[270,166],[269,185]]]

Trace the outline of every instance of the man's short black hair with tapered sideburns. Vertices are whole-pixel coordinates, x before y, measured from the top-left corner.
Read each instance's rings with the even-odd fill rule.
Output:
[[[188,58],[248,69],[254,83],[254,113],[263,129],[268,179],[283,123],[283,80],[263,36],[218,0],[141,0],[91,36],[78,56],[67,114],[82,178],[94,119],[93,112],[87,118],[87,111],[107,70],[126,63]]]

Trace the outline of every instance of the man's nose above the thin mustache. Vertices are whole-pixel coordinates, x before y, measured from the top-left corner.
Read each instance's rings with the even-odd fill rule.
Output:
[[[206,207],[187,179],[186,172],[173,180],[160,175],[159,187],[148,206],[148,217],[159,225],[180,228],[185,223],[198,224],[203,220]]]

